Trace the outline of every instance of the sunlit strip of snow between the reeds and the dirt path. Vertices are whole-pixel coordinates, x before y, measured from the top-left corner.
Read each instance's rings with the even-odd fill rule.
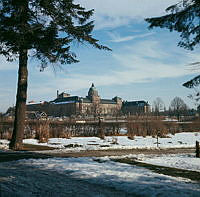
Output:
[[[166,138],[157,139],[151,136],[135,136],[134,140],[127,136],[106,136],[104,140],[98,137],[50,138],[47,143],[38,143],[36,139],[25,139],[26,144],[45,145],[66,151],[108,150],[108,149],[155,149],[155,148],[194,148],[200,141],[200,132],[183,132],[169,134]],[[0,140],[0,148],[8,148],[8,141]]]

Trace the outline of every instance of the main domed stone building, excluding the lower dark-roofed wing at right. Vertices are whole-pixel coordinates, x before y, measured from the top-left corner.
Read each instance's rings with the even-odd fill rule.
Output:
[[[27,105],[28,111],[44,111],[49,116],[117,115],[121,112],[121,108],[121,98],[101,99],[94,84],[86,97],[57,92],[57,98],[51,102]]]

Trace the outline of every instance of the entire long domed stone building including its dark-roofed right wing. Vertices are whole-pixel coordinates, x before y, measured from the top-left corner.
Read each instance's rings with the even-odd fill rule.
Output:
[[[71,96],[57,91],[57,98],[50,102],[30,103],[27,111],[45,112],[48,116],[119,116],[121,114],[144,114],[150,112],[145,101],[122,101],[120,97],[102,99],[94,86],[89,88],[86,97]]]

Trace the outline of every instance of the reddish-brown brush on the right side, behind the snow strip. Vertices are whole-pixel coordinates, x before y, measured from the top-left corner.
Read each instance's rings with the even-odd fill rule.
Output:
[[[191,122],[166,121],[163,116],[149,115],[127,118],[127,135],[130,139],[134,139],[134,136],[166,137],[167,134],[199,131],[199,118]]]

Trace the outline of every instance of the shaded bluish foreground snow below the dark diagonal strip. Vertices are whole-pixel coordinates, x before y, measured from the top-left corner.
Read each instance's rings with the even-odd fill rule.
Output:
[[[2,196],[197,197],[194,181],[96,158],[28,159],[0,163]]]

